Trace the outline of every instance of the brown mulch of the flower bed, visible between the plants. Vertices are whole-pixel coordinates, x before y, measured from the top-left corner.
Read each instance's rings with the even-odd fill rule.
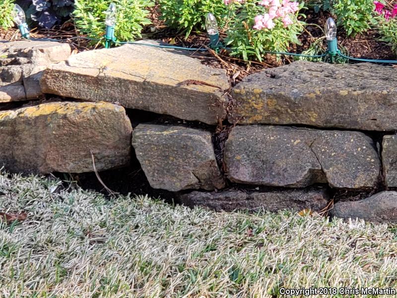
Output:
[[[330,17],[329,13],[324,13],[322,11],[314,13],[314,11],[307,10],[304,11],[304,13],[306,14],[306,23],[317,24],[320,27],[324,27],[325,21]],[[209,43],[205,32],[192,32],[192,34],[185,39],[183,33],[167,27],[160,19],[158,6],[151,7],[149,16],[152,20],[152,24],[144,28],[142,32],[142,38],[144,39],[158,39],[172,45],[193,48],[203,48]],[[53,29],[33,28],[31,36],[35,38],[65,40],[70,44],[75,53],[102,47],[100,44],[90,44],[88,40],[84,39],[68,40],[70,37],[78,36],[78,32],[74,28],[71,20],[66,21],[66,23],[61,26],[55,26]],[[306,26],[306,31],[300,36],[300,42],[302,44],[291,46],[289,51],[301,53],[307,50],[314,40],[323,36],[324,33],[319,27],[308,25]],[[0,40],[15,40],[17,38],[17,29],[0,29]],[[343,48],[344,51],[352,57],[386,60],[396,59],[396,54],[393,53],[391,47],[379,41],[379,36],[373,31],[356,35],[354,38],[346,37],[345,32],[340,31],[338,32],[338,44],[340,48]],[[323,42],[323,47],[326,47],[325,41]],[[229,74],[232,85],[241,81],[245,76],[259,72],[264,68],[278,67],[293,61],[292,57],[287,56],[283,56],[281,59],[276,60],[274,55],[267,55],[262,63],[257,61],[243,61],[235,57],[230,57],[225,50],[218,53],[212,50],[204,54],[192,53],[192,56],[201,59],[203,64],[225,69]]]

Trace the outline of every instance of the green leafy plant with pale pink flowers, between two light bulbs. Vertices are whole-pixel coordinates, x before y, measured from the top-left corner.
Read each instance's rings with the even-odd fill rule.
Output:
[[[291,43],[300,44],[298,35],[303,31],[304,22],[297,16],[303,3],[246,0],[230,5],[225,42],[231,48],[231,55],[262,61],[265,51],[286,51]]]

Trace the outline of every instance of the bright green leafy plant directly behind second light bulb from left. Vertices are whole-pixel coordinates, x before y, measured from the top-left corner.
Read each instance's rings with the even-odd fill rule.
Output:
[[[150,0],[75,0],[76,28],[91,38],[101,38],[105,31],[105,11],[112,2],[117,7],[116,38],[128,41],[141,37],[143,26],[151,23],[146,9],[153,6]]]

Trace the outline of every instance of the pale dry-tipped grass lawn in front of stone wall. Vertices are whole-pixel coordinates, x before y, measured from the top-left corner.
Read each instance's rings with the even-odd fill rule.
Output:
[[[0,175],[3,297],[271,297],[397,287],[396,227],[319,216],[214,213]],[[315,296],[312,296],[315,297]],[[349,297],[349,296],[344,296]]]

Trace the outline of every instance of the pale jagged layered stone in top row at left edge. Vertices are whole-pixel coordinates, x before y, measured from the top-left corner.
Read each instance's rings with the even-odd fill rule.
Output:
[[[69,55],[69,45],[58,42],[23,40],[1,43],[0,103],[41,96],[43,71],[54,62],[66,60]]]

